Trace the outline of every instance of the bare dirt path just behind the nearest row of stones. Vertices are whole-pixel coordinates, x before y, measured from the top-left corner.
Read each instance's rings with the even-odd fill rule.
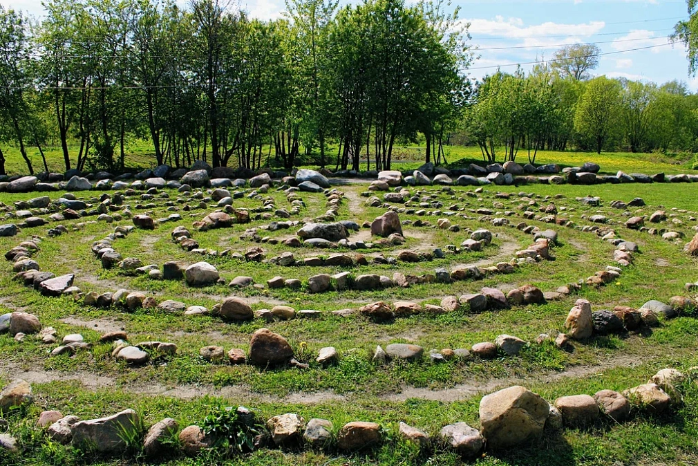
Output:
[[[531,374],[527,377],[511,377],[505,379],[491,379],[489,381],[471,382],[469,384],[458,384],[443,390],[431,390],[429,388],[415,388],[403,386],[401,393],[388,393],[381,395],[381,400],[389,402],[403,402],[410,398],[419,400],[434,400],[440,402],[455,402],[466,400],[480,393],[491,393],[505,386],[530,384],[550,384],[565,378],[583,378],[593,376],[599,372],[616,367],[633,367],[639,363],[646,362],[646,358],[641,356],[621,356],[609,358],[597,365],[580,365],[570,367],[562,372],[547,372],[542,375]],[[54,372],[42,370],[23,370],[20,365],[0,362],[0,372],[6,374],[10,379],[24,379],[29,384],[49,384],[54,381],[79,381],[84,388],[99,390],[107,387],[117,386],[117,381],[112,377],[101,376],[91,372]],[[290,393],[285,396],[267,395],[250,391],[246,386],[224,386],[217,388],[209,385],[178,385],[164,386],[162,384],[128,384],[119,387],[127,393],[149,396],[168,396],[182,400],[191,400],[202,396],[214,396],[239,400],[244,398],[247,403],[290,403],[301,405],[312,405],[322,402],[350,402],[362,396],[361,393],[350,395],[340,395],[331,391]]]

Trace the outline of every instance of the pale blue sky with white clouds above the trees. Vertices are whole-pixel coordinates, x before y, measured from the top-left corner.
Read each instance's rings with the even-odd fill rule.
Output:
[[[184,2],[185,0],[181,0]],[[281,16],[283,0],[239,0],[253,17]],[[410,0],[408,0],[410,1]],[[685,81],[698,92],[698,78],[688,74],[681,44],[667,36],[674,24],[688,18],[685,0],[452,0],[460,7],[461,21],[469,23],[470,44],[477,59],[472,78],[502,71],[524,71],[541,59],[550,59],[561,46],[596,43],[602,50],[595,75],[661,84]],[[0,0],[40,16],[40,0]],[[641,49],[641,50],[632,50]]]

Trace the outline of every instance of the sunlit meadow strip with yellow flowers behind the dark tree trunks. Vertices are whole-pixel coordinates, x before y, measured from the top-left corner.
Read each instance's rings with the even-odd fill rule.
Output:
[[[73,165],[77,157],[79,147],[70,147],[70,154],[73,156]],[[19,150],[10,147],[3,148],[6,152],[6,170],[9,174],[24,174],[28,173],[27,165],[20,155]],[[267,154],[268,147],[265,147],[264,154]],[[60,147],[45,147],[47,165],[50,170],[64,173],[65,165],[63,154]],[[303,150],[302,150],[303,152]],[[335,154],[335,147],[328,147],[328,154]],[[503,152],[500,150],[500,152]],[[144,140],[131,140],[126,145],[126,169],[131,171],[143,170],[144,168],[152,168],[156,161],[151,144]],[[424,146],[401,146],[395,147],[393,154],[392,168],[397,170],[413,170],[424,163]],[[335,154],[336,155],[336,154]],[[34,170],[40,172],[43,170],[43,161],[35,148],[28,149],[28,156],[34,165]],[[463,146],[446,146],[445,147],[446,161],[444,165],[451,168],[462,168],[468,166],[469,163],[483,164],[482,152],[478,147],[463,147]],[[329,163],[327,167],[334,169],[334,158],[328,156]],[[502,161],[498,159],[498,161]],[[632,153],[632,152],[577,152],[577,151],[540,151],[535,158],[535,164],[541,165],[544,163],[557,163],[565,166],[580,166],[585,161],[593,161],[601,166],[601,173],[615,175],[618,170],[623,170],[625,173],[666,173],[667,175],[676,173],[693,173],[692,163],[694,159],[690,156],[670,156],[659,153]],[[262,165],[265,166],[267,157],[263,158]],[[528,153],[519,151],[517,162],[528,163]],[[278,162],[274,162],[274,158],[270,160],[272,166],[278,166]],[[309,167],[313,167],[312,163],[304,163]],[[373,167],[371,161],[370,167]],[[366,170],[369,164],[366,160],[362,161],[361,169]]]

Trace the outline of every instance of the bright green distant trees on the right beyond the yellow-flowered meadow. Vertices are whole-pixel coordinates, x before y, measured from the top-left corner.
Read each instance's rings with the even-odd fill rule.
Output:
[[[464,108],[461,143],[477,144],[490,162],[514,160],[519,150],[532,163],[539,150],[572,147],[598,153],[698,150],[698,96],[685,84],[589,79],[584,68],[593,61],[580,67],[556,59],[528,75],[498,72],[477,82]]]

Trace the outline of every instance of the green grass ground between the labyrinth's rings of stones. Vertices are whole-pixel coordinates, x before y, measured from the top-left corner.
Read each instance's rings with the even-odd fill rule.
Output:
[[[457,156],[473,156],[463,150]],[[613,172],[622,169],[627,173],[643,171],[655,173],[674,167],[667,161],[653,162],[632,154],[556,154],[568,156],[570,164],[586,160],[597,161],[602,170]],[[449,154],[456,157],[455,151]],[[552,161],[539,155],[540,163]],[[617,158],[617,161],[616,161]],[[567,163],[561,160],[558,163]],[[416,163],[416,162],[415,162]],[[617,165],[616,165],[617,163]],[[634,165],[633,165],[634,163]],[[631,165],[630,167],[625,166]],[[609,168],[614,167],[614,168]],[[683,168],[685,170],[685,168]],[[372,221],[385,212],[383,207],[369,207],[361,196],[366,184],[348,184],[339,187],[345,194],[339,218],[352,219],[361,224]],[[593,310],[613,309],[616,305],[640,307],[646,300],[667,302],[671,296],[685,295],[684,284],[695,282],[698,276],[696,260],[682,252],[683,244],[698,225],[698,186],[695,184],[621,184],[594,187],[535,185],[524,187],[486,187],[479,194],[472,189],[454,187],[452,192],[440,187],[410,188],[411,194],[429,197],[429,201],[458,208],[458,215],[450,217],[461,231],[436,228],[441,215],[421,217],[415,213],[401,212],[400,219],[429,221],[431,226],[403,226],[406,243],[401,246],[380,246],[362,251],[369,265],[351,268],[338,267],[280,267],[271,263],[239,261],[230,257],[205,256],[185,252],[170,239],[175,226],[191,229],[193,237],[205,249],[231,249],[244,253],[252,247],[262,247],[267,259],[291,251],[296,259],[309,256],[329,256],[331,250],[300,247],[290,249],[281,242],[254,243],[240,238],[246,228],[269,224],[274,218],[256,219],[250,225],[233,228],[195,231],[193,221],[216,210],[215,203],[189,198],[177,191],[164,190],[168,197],[141,199],[140,193],[126,198],[125,204],[134,213],[148,213],[153,218],[166,217],[172,208],[181,214],[180,221],[167,222],[154,231],[136,230],[124,239],[114,241],[116,249],[124,257],[138,257],[144,264],[162,265],[178,259],[186,263],[200,260],[216,265],[228,282],[237,276],[252,277],[255,283],[265,284],[276,275],[301,279],[304,287],[291,289],[230,289],[225,284],[204,288],[192,288],[184,281],[152,280],[145,276],[119,273],[117,269],[104,270],[100,261],[90,251],[94,240],[105,237],[117,225],[131,225],[124,219],[107,224],[103,221],[77,226],[79,221],[64,221],[69,232],[57,238],[47,238],[49,226],[24,228],[15,238],[0,238],[0,250],[11,249],[32,235],[39,235],[40,251],[34,258],[43,270],[57,275],[74,272],[75,284],[83,291],[116,291],[128,289],[143,291],[158,301],[180,300],[186,305],[203,305],[209,309],[226,296],[239,296],[247,300],[253,309],[270,309],[285,304],[296,310],[320,310],[317,319],[292,319],[265,322],[255,319],[247,323],[225,323],[216,316],[184,316],[181,313],[159,310],[124,312],[117,307],[101,309],[84,306],[72,298],[45,298],[33,289],[15,282],[12,263],[3,262],[0,272],[0,314],[24,310],[36,314],[44,326],[53,326],[60,337],[68,333],[80,333],[91,349],[78,351],[75,356],[49,357],[56,345],[42,344],[28,336],[16,342],[10,335],[0,335],[0,387],[15,378],[31,381],[36,402],[15,412],[3,415],[9,421],[8,432],[20,444],[20,453],[0,450],[2,465],[126,465],[150,464],[138,445],[117,458],[105,458],[85,453],[72,446],[50,442],[36,427],[38,414],[44,409],[59,409],[63,414],[75,414],[80,418],[94,418],[113,414],[121,409],[133,408],[146,425],[166,416],[179,421],[180,428],[201,423],[203,418],[222,407],[246,405],[258,410],[258,416],[266,419],[276,414],[295,412],[309,420],[327,418],[338,430],[348,421],[376,421],[383,425],[386,441],[370,451],[347,454],[335,449],[320,452],[311,449],[263,449],[255,453],[225,458],[220,451],[210,451],[198,458],[186,458],[179,453],[158,458],[162,465],[457,465],[461,459],[443,446],[429,451],[419,451],[414,445],[399,439],[398,424],[404,421],[436,436],[443,425],[467,422],[477,427],[477,409],[482,395],[498,388],[522,384],[553,401],[558,396],[579,393],[593,394],[602,388],[622,391],[625,388],[646,383],[647,379],[664,367],[675,367],[689,375],[683,386],[685,402],[670,414],[654,416],[634,410],[630,421],[614,423],[602,417],[585,430],[565,429],[546,432],[540,442],[508,451],[488,452],[475,461],[479,465],[690,465],[698,461],[695,439],[698,437],[698,377],[695,366],[695,342],[698,336],[696,314],[688,312],[676,319],[662,321],[661,326],[645,329],[641,333],[597,336],[585,342],[575,342],[574,351],[562,351],[551,342],[536,344],[541,333],[564,331],[565,316],[578,298],[588,299]],[[498,192],[514,194],[510,199],[496,197]],[[558,231],[559,245],[554,247],[555,260],[521,265],[507,275],[491,275],[480,281],[462,281],[453,284],[420,284],[407,289],[390,288],[381,291],[329,291],[313,294],[306,289],[308,278],[319,273],[336,273],[348,270],[353,275],[376,273],[391,277],[394,272],[411,275],[433,273],[438,267],[452,270],[459,265],[490,265],[508,261],[514,251],[533,242],[533,237],[514,226],[520,221],[527,200],[521,200],[519,192],[527,194],[537,210],[550,203],[558,209],[558,217],[574,222],[579,228],[555,226],[537,220],[525,220],[527,224],[542,229]],[[52,194],[52,199],[60,193]],[[304,207],[292,219],[312,219],[324,214],[325,198],[322,194],[300,193]],[[379,194],[381,196],[382,194]],[[561,195],[561,197],[560,197]],[[602,206],[587,207],[576,200],[579,196],[600,196]],[[17,201],[27,201],[36,194],[1,194],[0,201],[13,207]],[[98,193],[78,194],[87,202],[97,203]],[[94,198],[93,198],[94,196]],[[557,196],[557,197],[556,197]],[[630,201],[641,196],[646,207],[618,210],[610,207],[611,201]],[[275,208],[290,208],[283,192],[270,190],[263,198],[272,198]],[[168,202],[172,205],[168,205]],[[151,204],[148,206],[148,204]],[[413,203],[414,204],[414,203]],[[191,210],[184,210],[184,206]],[[251,210],[262,206],[262,199],[243,197],[234,206]],[[403,207],[403,206],[399,206]],[[409,208],[409,206],[408,206]],[[490,217],[482,217],[475,210],[488,208],[494,217],[512,212],[507,217],[509,226],[493,226]],[[416,209],[419,209],[417,206]],[[666,210],[669,221],[658,225],[667,231],[684,235],[684,240],[663,240],[660,235],[645,231],[632,231],[623,222],[634,214],[649,215],[655,210]],[[675,210],[672,210],[675,209]],[[427,207],[435,210],[435,207]],[[614,262],[614,247],[593,232],[581,231],[581,226],[591,225],[588,216],[603,214],[607,228],[614,228],[618,236],[637,242],[639,254],[634,264],[623,271],[616,282],[596,289],[583,286],[579,293],[544,305],[514,306],[508,310],[487,311],[474,314],[463,310],[445,314],[417,314],[414,316],[376,323],[359,314],[336,316],[334,310],[352,309],[376,300],[394,302],[414,300],[438,305],[445,296],[461,296],[474,293],[482,286],[496,286],[508,291],[523,284],[539,286],[543,291],[554,291],[558,286],[578,282],[603,270]],[[465,215],[468,218],[463,218]],[[40,214],[46,217],[46,214]],[[96,217],[88,217],[94,220]],[[681,223],[678,223],[677,221]],[[19,220],[15,220],[19,221]],[[493,234],[492,245],[482,252],[446,254],[444,259],[418,263],[398,262],[396,265],[380,265],[370,259],[377,254],[396,256],[399,251],[431,252],[435,248],[447,250],[447,245],[460,245],[469,237],[467,229],[487,228]],[[283,240],[295,235],[295,228],[265,232],[271,238]],[[350,238],[370,240],[366,229],[352,233]],[[347,254],[355,254],[341,250]],[[309,363],[306,370],[288,367],[263,369],[253,365],[225,365],[203,361],[199,357],[201,347],[217,344],[248,350],[251,334],[267,327],[288,338],[300,361]],[[156,358],[141,367],[128,367],[115,361],[110,355],[111,345],[98,342],[105,330],[123,328],[130,342],[158,340],[174,342],[176,356]],[[417,363],[392,362],[378,365],[371,356],[380,344],[410,342],[430,349],[470,348],[477,342],[493,341],[497,335],[507,333],[531,342],[518,356],[501,356],[493,360],[454,360],[430,363],[428,358]],[[329,367],[315,363],[315,355],[322,347],[334,346],[339,361]],[[3,428],[0,427],[0,433]]]

